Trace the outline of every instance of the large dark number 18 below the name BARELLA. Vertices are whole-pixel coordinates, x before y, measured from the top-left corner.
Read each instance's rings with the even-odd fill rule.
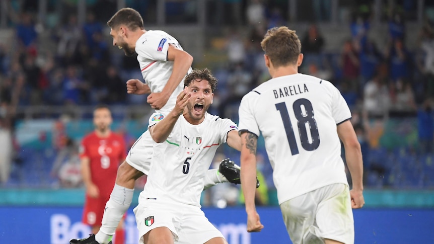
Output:
[[[285,102],[275,104],[277,111],[280,112],[280,116],[282,117],[283,126],[285,127],[286,138],[288,139],[288,143],[290,144],[291,154],[296,155],[299,154],[299,147],[297,145],[296,136],[294,134],[293,125],[291,123],[290,115],[288,114],[288,110],[286,108]],[[304,107],[304,110],[302,109]],[[312,103],[305,99],[301,98],[294,102],[293,104],[294,115],[297,118],[297,127],[299,129],[300,141],[302,142],[302,147],[307,151],[313,151],[318,148],[320,145],[320,136],[318,133],[317,122],[314,119],[314,110],[312,108]],[[308,138],[308,130],[307,126],[309,126],[310,132],[310,141]]]

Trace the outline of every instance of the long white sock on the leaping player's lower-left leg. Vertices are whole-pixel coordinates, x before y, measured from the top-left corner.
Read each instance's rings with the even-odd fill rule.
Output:
[[[134,189],[114,185],[110,199],[106,203],[102,226],[95,235],[95,240],[100,244],[108,244],[112,239],[117,225],[131,205],[133,193]]]

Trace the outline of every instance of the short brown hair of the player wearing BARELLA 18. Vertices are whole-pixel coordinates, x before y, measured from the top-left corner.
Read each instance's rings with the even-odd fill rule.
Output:
[[[297,64],[302,45],[296,31],[281,26],[267,31],[261,42],[261,47],[273,65],[279,67]]]

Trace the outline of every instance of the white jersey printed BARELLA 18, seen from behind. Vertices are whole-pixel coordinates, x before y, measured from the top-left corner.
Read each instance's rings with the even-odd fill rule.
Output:
[[[351,113],[330,82],[300,73],[270,79],[243,97],[239,117],[239,131],[265,139],[279,204],[348,185],[336,126]]]

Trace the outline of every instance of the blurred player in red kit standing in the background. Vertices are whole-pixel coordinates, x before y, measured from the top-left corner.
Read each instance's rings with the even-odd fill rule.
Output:
[[[94,233],[101,227],[105,204],[113,190],[117,169],[126,156],[123,138],[110,130],[112,121],[109,108],[105,105],[97,106],[93,119],[95,131],[83,138],[80,147],[82,175],[86,186],[83,222],[92,226]],[[119,222],[114,237],[116,244],[124,243],[123,220]]]

